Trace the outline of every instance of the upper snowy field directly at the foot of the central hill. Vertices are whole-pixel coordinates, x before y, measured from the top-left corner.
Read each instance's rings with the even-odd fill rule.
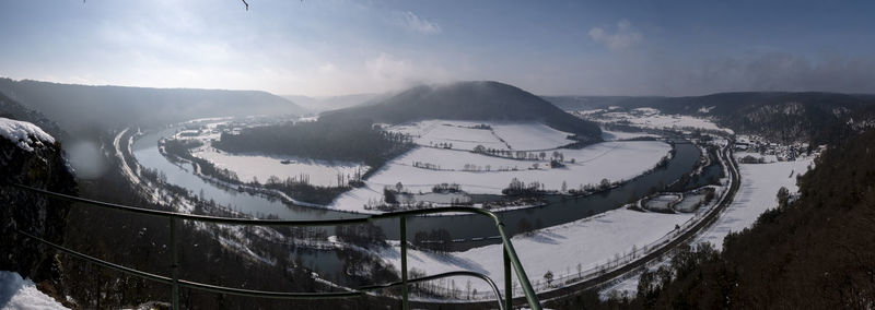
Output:
[[[480,124],[488,124],[491,130],[474,128]],[[549,150],[574,142],[567,139],[570,133],[539,122],[425,120],[386,130],[410,134],[422,146],[453,144],[455,150],[474,150],[477,145],[495,150]]]

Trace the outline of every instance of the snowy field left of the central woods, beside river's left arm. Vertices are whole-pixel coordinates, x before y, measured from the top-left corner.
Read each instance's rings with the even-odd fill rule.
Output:
[[[353,163],[329,163],[261,154],[232,155],[213,147],[198,148],[191,155],[210,160],[217,167],[236,172],[240,180],[244,182],[258,178],[258,181],[264,183],[271,176],[279,177],[280,180],[285,180],[285,178],[300,180],[301,176],[306,176],[310,178],[311,184],[336,187],[339,174],[354,176],[357,171],[364,174],[369,169],[368,166]],[[282,160],[290,160],[290,164],[282,164]]]

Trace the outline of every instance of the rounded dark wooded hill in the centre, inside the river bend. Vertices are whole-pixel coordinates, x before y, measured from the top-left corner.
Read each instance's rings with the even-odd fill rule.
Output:
[[[575,133],[583,141],[598,141],[602,133],[596,124],[569,115],[532,93],[491,81],[421,85],[373,105],[322,115],[326,121],[355,118],[388,123],[422,119],[540,121]]]

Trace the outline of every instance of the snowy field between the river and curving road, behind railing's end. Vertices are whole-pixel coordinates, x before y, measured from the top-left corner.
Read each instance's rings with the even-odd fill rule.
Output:
[[[512,238],[516,253],[533,284],[544,283],[548,271],[556,278],[578,275],[578,265],[587,271],[605,264],[615,255],[642,249],[684,225],[693,214],[645,213],[618,208],[569,224],[537,230],[532,236],[518,235]],[[645,229],[642,227],[646,227]],[[384,249],[381,257],[400,267],[400,249],[396,245]],[[455,270],[470,270],[503,283],[501,245],[470,249],[464,252],[438,254],[408,250],[409,269],[435,274]],[[465,284],[456,282],[458,288]],[[485,283],[471,281],[478,291],[488,291]],[[518,287],[518,286],[517,286]]]

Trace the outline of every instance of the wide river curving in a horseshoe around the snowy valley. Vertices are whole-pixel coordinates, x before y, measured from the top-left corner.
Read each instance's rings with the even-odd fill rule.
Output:
[[[363,216],[362,214],[342,211],[285,204],[280,200],[230,190],[208,182],[192,174],[190,169],[183,169],[161,155],[158,150],[158,141],[173,132],[174,129],[167,129],[140,136],[135,141],[132,150],[133,156],[141,166],[163,171],[167,176],[170,183],[189,189],[198,194],[202,192],[206,199],[212,199],[218,203],[253,215],[273,214],[285,219],[353,218]],[[520,230],[520,224],[523,219],[533,227],[539,228],[561,225],[614,210],[631,200],[643,196],[651,188],[661,182],[663,184],[672,183],[682,175],[691,171],[699,159],[699,148],[688,142],[677,141],[675,151],[675,156],[666,167],[635,178],[609,191],[582,198],[549,196],[548,203],[544,206],[502,211],[498,212],[498,215],[505,224],[505,230],[513,235]],[[709,167],[707,175],[719,174],[719,168]],[[700,182],[703,184],[707,179],[700,178]],[[374,222],[374,224],[382,227],[389,239],[399,237],[397,219],[381,219]],[[491,219],[480,215],[415,217],[408,219],[407,227],[409,238],[412,238],[417,231],[447,229],[453,239],[467,240],[466,242],[456,242],[457,249],[498,241],[494,239],[498,233]],[[475,239],[475,241],[471,241],[471,239]]]

